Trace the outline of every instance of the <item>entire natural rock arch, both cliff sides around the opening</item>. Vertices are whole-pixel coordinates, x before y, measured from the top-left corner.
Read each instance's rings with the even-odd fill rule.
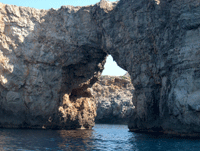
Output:
[[[108,53],[135,87],[131,131],[198,135],[199,14],[199,0],[102,0],[59,10],[1,4],[1,126],[91,127],[88,87]]]

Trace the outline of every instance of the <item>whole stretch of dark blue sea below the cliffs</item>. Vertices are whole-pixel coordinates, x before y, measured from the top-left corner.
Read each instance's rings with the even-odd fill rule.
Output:
[[[200,140],[128,132],[126,125],[97,124],[93,130],[0,129],[0,151],[200,151]]]

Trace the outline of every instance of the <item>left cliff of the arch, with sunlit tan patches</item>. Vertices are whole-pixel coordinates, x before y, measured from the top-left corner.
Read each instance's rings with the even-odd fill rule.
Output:
[[[93,19],[97,7],[0,4],[0,127],[94,126],[96,104],[88,87],[107,55]]]

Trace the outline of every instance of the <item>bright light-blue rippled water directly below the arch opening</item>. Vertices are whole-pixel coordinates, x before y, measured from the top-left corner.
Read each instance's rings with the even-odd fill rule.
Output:
[[[135,146],[129,143],[131,136],[132,133],[128,133],[126,125],[98,124],[95,126],[92,137],[95,143],[94,150],[131,150]]]

